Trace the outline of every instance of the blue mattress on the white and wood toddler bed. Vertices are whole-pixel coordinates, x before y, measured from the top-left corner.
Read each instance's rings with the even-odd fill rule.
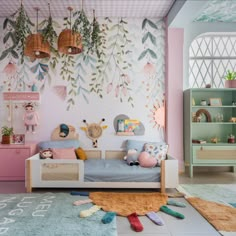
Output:
[[[84,161],[85,182],[160,182],[160,167],[129,166],[124,160]]]

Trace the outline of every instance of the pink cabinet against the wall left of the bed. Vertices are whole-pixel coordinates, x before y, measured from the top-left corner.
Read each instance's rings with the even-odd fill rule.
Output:
[[[0,149],[0,179],[24,180],[25,159],[30,156],[29,148]]]

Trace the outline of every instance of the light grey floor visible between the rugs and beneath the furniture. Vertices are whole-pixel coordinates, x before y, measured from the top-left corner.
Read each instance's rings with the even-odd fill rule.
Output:
[[[236,173],[232,172],[197,172],[193,178],[189,178],[188,174],[180,175],[180,184],[235,184]],[[43,190],[37,190],[40,192]],[[44,190],[45,191],[45,190]],[[48,190],[47,190],[48,191]],[[52,191],[52,189],[50,189]],[[56,190],[55,190],[56,191]],[[62,191],[62,190],[57,190]],[[71,190],[63,190],[71,191]],[[89,191],[89,190],[85,190]],[[101,189],[96,190],[101,191]],[[120,190],[106,190],[120,191]],[[127,190],[123,190],[127,191]],[[132,190],[134,191],[134,190]],[[146,191],[146,190],[145,190]],[[151,191],[151,190],[150,190]],[[168,191],[175,191],[173,189]],[[0,182],[0,193],[24,193],[24,182]],[[169,206],[172,210],[184,214],[185,219],[180,220],[163,212],[158,212],[165,222],[164,226],[157,226],[147,217],[139,217],[143,224],[142,232],[135,232],[130,228],[129,221],[126,217],[117,217],[118,236],[218,236],[220,235],[194,208],[192,208],[184,198],[175,199],[176,201],[185,202],[187,207],[180,208]]]

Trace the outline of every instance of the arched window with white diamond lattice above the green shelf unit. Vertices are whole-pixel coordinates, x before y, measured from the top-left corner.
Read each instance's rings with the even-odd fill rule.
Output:
[[[189,87],[223,88],[226,72],[236,71],[236,34],[206,33],[189,48]]]

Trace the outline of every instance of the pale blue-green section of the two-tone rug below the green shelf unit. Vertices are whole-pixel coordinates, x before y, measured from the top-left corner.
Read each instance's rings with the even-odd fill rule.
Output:
[[[231,206],[236,203],[236,184],[181,184],[177,190],[187,197],[199,197]]]

